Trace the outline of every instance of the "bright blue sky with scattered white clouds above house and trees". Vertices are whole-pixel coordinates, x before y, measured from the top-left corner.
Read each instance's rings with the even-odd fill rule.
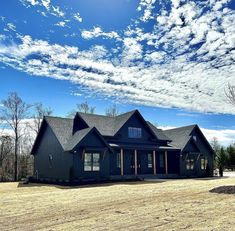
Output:
[[[235,3],[2,0],[0,99],[17,91],[65,116],[116,103],[160,127],[197,123],[235,140]]]

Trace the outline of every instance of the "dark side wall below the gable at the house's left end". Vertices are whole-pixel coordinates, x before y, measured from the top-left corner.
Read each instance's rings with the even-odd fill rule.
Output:
[[[34,155],[35,178],[48,181],[69,180],[72,161],[72,155],[63,151],[53,131],[46,125]]]

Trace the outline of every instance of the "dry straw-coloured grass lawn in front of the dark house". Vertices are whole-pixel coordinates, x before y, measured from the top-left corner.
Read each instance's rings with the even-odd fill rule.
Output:
[[[0,230],[235,230],[235,178],[80,187],[0,184]]]

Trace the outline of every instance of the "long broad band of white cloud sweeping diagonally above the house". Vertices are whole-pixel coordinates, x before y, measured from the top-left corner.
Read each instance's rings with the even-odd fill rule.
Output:
[[[130,53],[123,51],[128,62],[141,56],[142,49],[135,40],[127,40],[125,48],[128,46]],[[235,108],[225,103],[223,91],[227,81],[234,81],[234,66],[228,72],[227,68],[210,69],[207,63],[186,63],[181,58],[149,67],[142,62],[126,66],[127,57],[121,65],[113,65],[108,57],[103,46],[79,51],[30,36],[22,37],[18,46],[0,46],[1,62],[32,75],[80,84],[93,93],[151,106],[235,113]]]

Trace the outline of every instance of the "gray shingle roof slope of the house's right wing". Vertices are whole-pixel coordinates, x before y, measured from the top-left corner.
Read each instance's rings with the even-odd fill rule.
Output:
[[[193,124],[185,127],[164,130],[163,132],[172,140],[171,145],[183,149],[190,140],[190,134],[196,126],[196,124]]]

